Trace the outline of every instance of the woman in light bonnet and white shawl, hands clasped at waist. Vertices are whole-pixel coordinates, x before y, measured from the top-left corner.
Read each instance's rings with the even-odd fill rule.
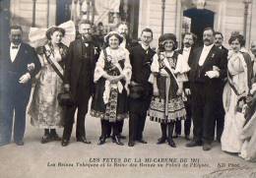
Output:
[[[91,115],[101,119],[101,136],[98,145],[105,143],[107,129],[113,129],[113,141],[120,142],[118,122],[128,116],[127,93],[131,80],[129,52],[120,47],[122,36],[111,31],[105,36],[107,47],[102,49],[96,62],[96,92],[92,101]],[[112,123],[112,124],[109,124]]]

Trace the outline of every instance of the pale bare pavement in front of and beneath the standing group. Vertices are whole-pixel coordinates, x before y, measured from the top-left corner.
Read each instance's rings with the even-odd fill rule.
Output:
[[[183,137],[174,140],[177,148],[157,145],[160,124],[149,119],[144,132],[148,144],[138,143],[134,148],[127,146],[127,139],[123,141],[125,146],[117,146],[110,140],[97,146],[98,118],[88,115],[86,129],[92,145],[76,142],[75,127],[68,147],[61,147],[60,142],[42,145],[43,131],[32,127],[28,117],[25,146],[12,143],[0,148],[0,178],[256,178],[256,163],[222,151],[217,142],[209,151],[202,147],[186,148]],[[60,136],[62,131],[57,130]],[[128,136],[128,120],[123,135]]]

